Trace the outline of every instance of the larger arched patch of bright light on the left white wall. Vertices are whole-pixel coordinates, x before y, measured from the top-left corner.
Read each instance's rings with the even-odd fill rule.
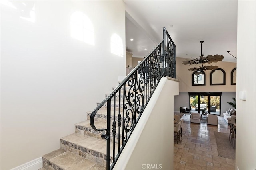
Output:
[[[94,28],[91,20],[82,12],[74,12],[70,17],[71,37],[94,45]]]

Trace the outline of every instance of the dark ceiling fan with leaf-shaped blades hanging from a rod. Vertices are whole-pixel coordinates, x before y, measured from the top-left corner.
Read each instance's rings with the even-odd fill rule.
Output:
[[[202,66],[199,67],[194,67],[194,68],[189,68],[189,71],[204,71],[204,70],[215,70],[217,68],[219,68],[218,66],[204,66],[204,63],[212,63],[212,62],[218,62],[218,61],[222,61],[222,59],[224,58],[223,55],[207,55],[206,57],[204,57],[204,55],[202,54],[202,43],[204,41],[200,41],[201,43],[201,55],[199,56],[200,58],[196,58],[196,59],[192,59],[192,60],[188,60],[186,59],[186,61],[183,61],[182,64],[184,65],[192,65],[192,64],[202,64]]]

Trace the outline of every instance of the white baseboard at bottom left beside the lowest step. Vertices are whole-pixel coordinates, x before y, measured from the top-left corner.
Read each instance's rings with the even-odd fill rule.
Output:
[[[38,170],[43,167],[42,157],[34,159],[11,170]]]

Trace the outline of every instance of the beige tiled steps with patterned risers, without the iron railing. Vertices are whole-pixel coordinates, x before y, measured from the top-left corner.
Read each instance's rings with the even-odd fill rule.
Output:
[[[119,100],[119,97],[116,100]],[[111,108],[113,110],[114,107]],[[91,111],[87,112],[86,121],[75,124],[75,133],[60,138],[60,149],[42,156],[43,168],[46,170],[106,170],[106,140],[101,138],[100,131],[94,131],[90,126],[91,113]],[[106,117],[107,109],[104,105],[96,114],[95,125],[98,129],[106,128]],[[118,135],[117,129],[116,136]],[[122,134],[120,136],[122,138]],[[112,133],[110,137],[113,141]],[[117,144],[116,148],[118,148]]]

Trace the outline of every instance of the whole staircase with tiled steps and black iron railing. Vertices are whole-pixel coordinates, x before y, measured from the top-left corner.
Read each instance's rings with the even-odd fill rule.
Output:
[[[60,139],[60,149],[42,156],[43,168],[112,170],[161,78],[176,78],[175,47],[164,28],[162,42]]]

